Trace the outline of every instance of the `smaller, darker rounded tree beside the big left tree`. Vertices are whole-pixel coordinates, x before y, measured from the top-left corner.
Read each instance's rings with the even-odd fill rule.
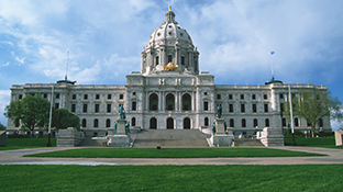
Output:
[[[65,108],[54,110],[52,122],[52,126],[56,127],[57,129],[68,127],[75,127],[78,129],[80,128],[80,118]]]

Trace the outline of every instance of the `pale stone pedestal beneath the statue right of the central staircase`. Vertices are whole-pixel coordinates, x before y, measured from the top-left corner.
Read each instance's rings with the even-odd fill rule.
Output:
[[[225,133],[224,120],[215,118],[215,134],[211,137],[211,143],[214,147],[229,147],[231,146],[233,139],[233,132],[229,131],[231,134]]]

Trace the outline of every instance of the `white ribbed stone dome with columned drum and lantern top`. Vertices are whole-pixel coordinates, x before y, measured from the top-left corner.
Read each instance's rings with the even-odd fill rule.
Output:
[[[143,47],[142,74],[166,71],[166,65],[172,63],[179,72],[199,74],[198,56],[188,32],[175,21],[175,13],[169,10],[165,21],[151,34]]]

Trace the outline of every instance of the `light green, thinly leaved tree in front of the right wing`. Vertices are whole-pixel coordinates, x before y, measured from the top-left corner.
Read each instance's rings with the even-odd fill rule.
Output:
[[[343,117],[342,102],[333,98],[328,90],[308,89],[301,90],[299,95],[292,97],[292,110],[296,115],[305,118],[311,126],[314,137],[316,125],[325,116],[341,121]],[[289,114],[289,102],[284,105],[285,113]]]

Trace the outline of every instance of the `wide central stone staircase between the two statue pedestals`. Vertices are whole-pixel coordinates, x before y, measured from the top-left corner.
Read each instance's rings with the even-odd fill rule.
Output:
[[[131,137],[133,147],[209,147],[210,135],[199,129],[144,129]]]

